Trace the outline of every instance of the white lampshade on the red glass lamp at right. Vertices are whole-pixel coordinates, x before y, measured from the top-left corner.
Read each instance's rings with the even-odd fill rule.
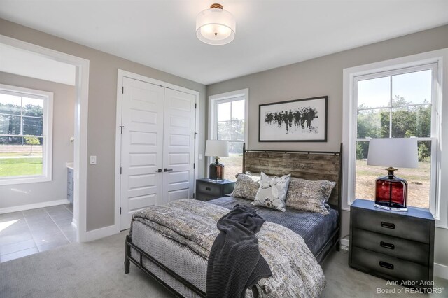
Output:
[[[419,166],[417,139],[385,138],[370,139],[367,155],[369,166],[392,166],[416,168]]]

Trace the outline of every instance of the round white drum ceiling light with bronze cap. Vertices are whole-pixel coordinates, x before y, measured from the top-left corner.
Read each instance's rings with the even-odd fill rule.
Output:
[[[211,4],[196,17],[196,36],[209,45],[230,43],[235,38],[235,17],[221,4]]]

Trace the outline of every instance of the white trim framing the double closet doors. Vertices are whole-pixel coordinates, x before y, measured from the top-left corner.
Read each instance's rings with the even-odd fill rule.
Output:
[[[137,73],[131,73],[130,71],[124,71],[123,69],[118,69],[118,79],[117,79],[117,110],[116,110],[116,138],[115,138],[115,220],[114,220],[114,230],[116,233],[120,232],[120,159],[121,159],[121,129],[119,127],[119,123],[122,122],[121,118],[121,110],[123,108],[122,104],[122,87],[123,87],[123,78],[132,78],[134,80],[141,80],[146,83],[150,83],[153,85],[159,85],[162,87],[167,87],[169,89],[178,90],[181,92],[185,92],[188,94],[193,94],[196,96],[196,115],[195,115],[195,132],[199,129],[199,115],[198,113],[200,109],[200,92],[195,90],[190,90],[185,87],[181,87],[178,85],[173,85],[170,83],[163,82],[162,80],[156,80],[154,78],[148,78],[146,76],[141,76]],[[199,137],[195,138],[195,180],[198,177],[198,169],[197,165],[199,162],[199,155],[197,154],[199,146]],[[193,183],[193,192],[196,192],[195,187],[196,183]]]

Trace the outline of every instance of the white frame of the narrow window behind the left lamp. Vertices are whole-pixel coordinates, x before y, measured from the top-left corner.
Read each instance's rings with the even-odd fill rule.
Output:
[[[209,96],[209,140],[216,139],[218,132],[218,104],[234,101],[237,97],[244,97],[244,143],[248,148],[248,111],[249,111],[249,90],[241,89],[231,92]],[[207,162],[212,162],[212,157],[207,158]],[[207,176],[209,169],[207,167]]]

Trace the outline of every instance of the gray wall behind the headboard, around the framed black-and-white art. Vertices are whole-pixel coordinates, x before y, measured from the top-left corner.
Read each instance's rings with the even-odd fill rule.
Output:
[[[420,52],[448,48],[448,26],[393,38],[333,55],[254,73],[207,86],[207,97],[249,88],[248,148],[271,150],[339,150],[342,142],[342,70]],[[258,105],[328,95],[328,142],[259,143]],[[342,236],[349,234],[349,212],[342,214]],[[448,265],[448,230],[436,232],[435,262]]]

